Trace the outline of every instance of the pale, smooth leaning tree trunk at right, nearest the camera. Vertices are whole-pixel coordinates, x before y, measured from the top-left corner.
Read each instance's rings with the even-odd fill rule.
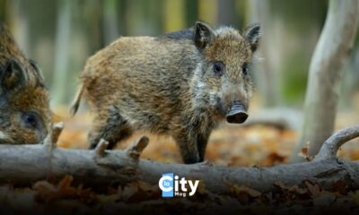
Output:
[[[338,90],[343,66],[354,44],[359,21],[359,2],[330,0],[327,20],[311,59],[304,104],[302,132],[292,161],[309,142],[309,155],[320,150],[334,130]]]

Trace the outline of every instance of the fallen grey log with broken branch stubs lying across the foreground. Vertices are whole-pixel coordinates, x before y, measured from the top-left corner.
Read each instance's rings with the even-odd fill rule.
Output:
[[[56,125],[44,144],[0,145],[0,184],[31,185],[66,175],[74,182],[89,186],[124,185],[144,181],[157,185],[164,173],[198,179],[214,193],[231,193],[233,185],[248,185],[261,192],[277,188],[276,183],[300,185],[309,180],[330,188],[337,180],[347,187],[359,188],[359,161],[338,159],[337,149],[359,136],[359,125],[333,134],[324,142],[318,156],[310,162],[279,165],[270,168],[221,167],[209,162],[193,165],[161,163],[139,159],[148,143],[143,136],[127,150],[106,150],[101,140],[95,150],[71,150],[56,147],[63,125]]]

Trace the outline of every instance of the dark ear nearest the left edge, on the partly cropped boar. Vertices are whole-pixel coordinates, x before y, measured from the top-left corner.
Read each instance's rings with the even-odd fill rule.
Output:
[[[1,73],[0,87],[4,90],[13,90],[17,87],[22,87],[26,83],[26,77],[22,65],[14,58],[11,58],[4,66],[3,73]]]

